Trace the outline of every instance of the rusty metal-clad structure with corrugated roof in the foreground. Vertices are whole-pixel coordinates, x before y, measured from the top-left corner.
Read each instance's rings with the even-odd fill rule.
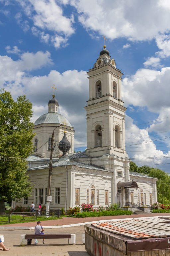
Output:
[[[170,220],[145,218],[86,225],[85,249],[91,256],[170,256]]]

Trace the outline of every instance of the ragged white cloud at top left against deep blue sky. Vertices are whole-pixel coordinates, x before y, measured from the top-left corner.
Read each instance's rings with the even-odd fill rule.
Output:
[[[45,43],[50,40],[56,48],[67,45],[68,38],[74,33],[74,16],[72,14],[69,15],[70,17],[64,16],[62,8],[57,5],[55,0],[21,0],[18,2],[34,23],[31,28],[34,35],[39,36]],[[28,22],[23,21],[21,13],[18,13],[16,18],[18,23],[22,24],[23,29],[29,29],[26,26]]]

